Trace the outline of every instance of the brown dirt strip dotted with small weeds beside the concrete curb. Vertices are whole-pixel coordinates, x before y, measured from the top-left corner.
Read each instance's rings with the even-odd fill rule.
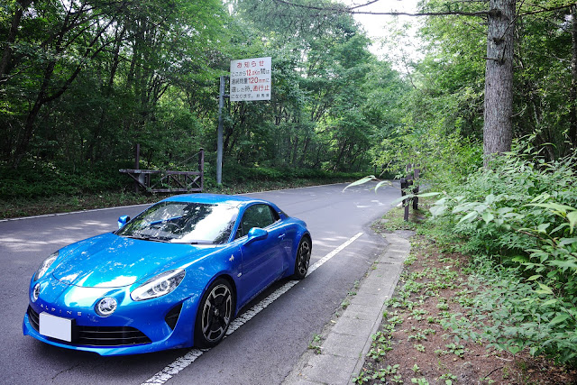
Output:
[[[416,236],[406,270],[357,383],[574,384],[577,372],[553,362],[455,340],[446,320],[466,319],[468,257]]]

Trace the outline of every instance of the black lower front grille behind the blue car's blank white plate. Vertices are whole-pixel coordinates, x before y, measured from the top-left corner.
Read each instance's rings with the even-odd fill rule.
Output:
[[[30,325],[39,331],[40,316],[32,307],[28,307]],[[79,326],[74,325],[72,335],[75,336],[71,344],[88,346],[124,346],[133,344],[150,344],[151,339],[140,330],[129,326]],[[68,344],[59,341],[62,344]]]

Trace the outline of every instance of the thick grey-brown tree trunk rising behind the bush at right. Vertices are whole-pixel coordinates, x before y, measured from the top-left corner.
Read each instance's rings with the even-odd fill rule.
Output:
[[[483,128],[485,165],[493,154],[511,150],[514,31],[515,0],[490,0]]]

